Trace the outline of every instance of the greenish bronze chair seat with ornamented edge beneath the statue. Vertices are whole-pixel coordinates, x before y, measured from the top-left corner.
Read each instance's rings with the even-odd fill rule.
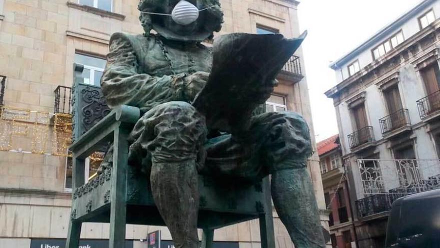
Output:
[[[148,177],[131,166],[127,171],[129,224],[164,225],[154,204]],[[111,169],[73,192],[72,218],[82,222],[109,222]],[[262,181],[236,185],[232,179],[199,175],[199,228],[218,228],[258,218],[264,213]]]

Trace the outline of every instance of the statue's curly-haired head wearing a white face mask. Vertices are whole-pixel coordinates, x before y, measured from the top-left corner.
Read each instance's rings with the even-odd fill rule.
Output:
[[[145,34],[168,40],[201,42],[223,23],[219,0],[140,0],[138,10]]]

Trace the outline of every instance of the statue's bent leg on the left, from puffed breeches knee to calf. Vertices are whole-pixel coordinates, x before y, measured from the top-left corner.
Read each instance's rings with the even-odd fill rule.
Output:
[[[153,108],[132,132],[130,160],[150,153],[154,202],[177,248],[198,248],[196,163],[205,135],[204,118],[184,102]]]

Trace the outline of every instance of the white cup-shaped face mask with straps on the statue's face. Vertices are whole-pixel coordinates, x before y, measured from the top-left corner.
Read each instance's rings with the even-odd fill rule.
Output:
[[[159,16],[170,16],[172,20],[180,25],[189,25],[193,22],[195,22],[198,19],[198,13],[201,11],[205,11],[207,9],[213,8],[214,6],[204,8],[204,9],[197,9],[193,4],[185,1],[180,0],[172,10],[171,14],[162,14],[162,13],[152,13],[152,12],[143,12],[140,13],[143,14],[150,14],[150,15],[159,15]]]

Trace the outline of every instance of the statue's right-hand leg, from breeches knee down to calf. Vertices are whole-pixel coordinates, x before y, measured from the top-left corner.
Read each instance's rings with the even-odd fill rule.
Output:
[[[253,120],[258,152],[271,173],[275,209],[296,248],[325,247],[306,161],[312,152],[304,119],[293,112],[266,113]]]

